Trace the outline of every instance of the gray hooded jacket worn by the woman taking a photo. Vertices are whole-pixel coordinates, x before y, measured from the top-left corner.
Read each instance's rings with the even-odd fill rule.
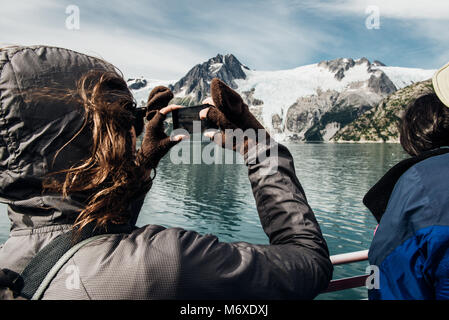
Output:
[[[25,99],[36,88],[74,88],[91,69],[112,70],[99,59],[36,46],[0,50],[0,201],[8,205],[9,239],[0,268],[22,272],[33,256],[70,230],[85,200],[42,192],[42,177],[67,168],[89,151],[80,135],[56,158],[83,122],[69,103]],[[332,276],[326,242],[282,145],[278,170],[269,159],[248,172],[270,245],[224,243],[213,235],[147,225],[79,250],[60,270],[44,299],[311,299]],[[137,219],[141,201],[133,204]],[[79,286],[73,284],[74,270]]]

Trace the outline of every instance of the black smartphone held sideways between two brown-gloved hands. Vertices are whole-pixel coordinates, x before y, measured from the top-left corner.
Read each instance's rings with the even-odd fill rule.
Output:
[[[204,132],[207,129],[218,129],[218,126],[209,121],[200,119],[200,111],[206,108],[212,107],[210,104],[201,104],[192,107],[185,107],[172,111],[173,129],[184,129],[189,134]],[[194,125],[194,121],[196,125]],[[200,125],[201,121],[201,127]]]

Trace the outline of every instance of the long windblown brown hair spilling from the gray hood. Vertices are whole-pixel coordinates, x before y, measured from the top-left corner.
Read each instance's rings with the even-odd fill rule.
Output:
[[[71,100],[84,110],[81,129],[61,150],[83,130],[92,133],[90,156],[71,168],[49,174],[43,182],[44,190],[64,197],[89,195],[74,223],[77,232],[92,222],[96,227],[128,222],[132,218],[131,201],[144,196],[152,181],[144,178],[149,174],[136,162],[131,135],[135,103],[123,77],[117,72],[90,71],[80,78],[75,90],[44,88],[39,94]]]

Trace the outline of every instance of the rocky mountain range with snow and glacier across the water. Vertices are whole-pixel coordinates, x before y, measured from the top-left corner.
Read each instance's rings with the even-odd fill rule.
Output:
[[[168,86],[175,103],[200,103],[217,77],[238,91],[278,140],[329,141],[343,127],[400,88],[429,79],[435,70],[388,67],[366,58],[321,61],[290,70],[255,71],[231,55],[194,66],[179,81],[130,79],[136,100]]]

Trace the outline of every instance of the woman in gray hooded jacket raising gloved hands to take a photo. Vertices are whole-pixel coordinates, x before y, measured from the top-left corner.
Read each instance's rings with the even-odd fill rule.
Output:
[[[168,105],[171,91],[153,89],[142,113],[112,65],[45,46],[0,50],[0,72],[0,200],[12,223],[0,267],[6,278],[20,274],[10,296],[312,299],[327,287],[326,242],[285,147],[276,145],[277,170],[269,176],[262,172],[270,159],[246,144],[237,150],[247,159],[270,245],[225,243],[182,228],[138,228],[159,160],[183,138],[164,133],[166,114],[180,107]],[[221,129],[263,130],[223,82],[214,79],[211,94],[214,106],[201,117]],[[54,239],[65,241],[64,250]],[[63,252],[71,256],[60,269],[35,279],[48,261],[57,266]]]

